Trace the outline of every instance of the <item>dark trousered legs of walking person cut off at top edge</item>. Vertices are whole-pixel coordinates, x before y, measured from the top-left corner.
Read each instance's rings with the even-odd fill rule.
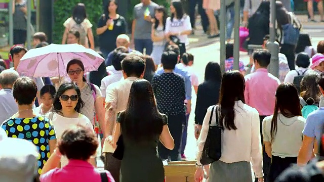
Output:
[[[207,32],[209,20],[203,8],[203,0],[189,0],[189,16],[190,16],[191,27],[195,28],[195,22],[196,22],[195,7],[197,4],[198,4],[198,13],[201,17],[201,26],[203,26],[204,32]]]

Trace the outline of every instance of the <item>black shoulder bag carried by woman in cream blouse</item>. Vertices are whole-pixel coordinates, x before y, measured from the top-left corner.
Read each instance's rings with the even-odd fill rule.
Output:
[[[214,109],[216,107],[215,115],[216,115],[216,125],[212,126],[212,118]],[[212,109],[211,117],[209,119],[209,130],[203,150],[203,154],[201,155],[200,163],[203,165],[208,165],[215,161],[218,161],[222,156],[221,151],[221,134],[222,127],[219,125],[218,121],[218,107],[214,106]]]

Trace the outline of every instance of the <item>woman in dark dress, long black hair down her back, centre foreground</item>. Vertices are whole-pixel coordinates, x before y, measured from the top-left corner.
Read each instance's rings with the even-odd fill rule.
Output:
[[[133,82],[127,108],[119,113],[113,136],[116,147],[123,134],[124,157],[120,167],[121,182],[163,182],[163,162],[157,154],[157,143],[174,148],[168,117],[157,110],[153,88],[145,79]]]

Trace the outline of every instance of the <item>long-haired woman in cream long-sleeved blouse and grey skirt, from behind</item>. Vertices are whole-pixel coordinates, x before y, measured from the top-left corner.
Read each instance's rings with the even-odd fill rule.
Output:
[[[263,181],[262,150],[259,113],[255,108],[245,104],[245,79],[239,71],[224,73],[218,110],[220,125],[224,128],[222,139],[222,156],[211,164],[209,181],[251,182],[251,164],[258,181]],[[212,107],[209,107],[197,141],[195,181],[202,181],[203,165],[200,163],[206,142]],[[215,112],[215,111],[214,111]],[[213,113],[212,125],[216,125]]]

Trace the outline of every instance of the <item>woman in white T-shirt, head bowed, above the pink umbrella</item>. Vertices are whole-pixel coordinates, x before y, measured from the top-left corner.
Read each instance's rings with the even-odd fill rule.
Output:
[[[86,7],[83,3],[78,3],[73,10],[73,15],[63,23],[65,30],[62,37],[62,44],[66,43],[68,32],[70,30],[80,33],[79,42],[84,47],[95,49],[95,40],[92,32],[92,24],[87,18]],[[89,39],[88,39],[89,37]]]

